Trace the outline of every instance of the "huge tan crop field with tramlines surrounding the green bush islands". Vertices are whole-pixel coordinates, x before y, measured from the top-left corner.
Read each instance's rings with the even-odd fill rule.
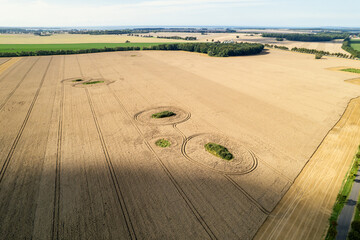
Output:
[[[251,239],[359,95],[349,73],[327,68],[356,64],[286,51],[21,58],[0,73],[0,232]],[[163,111],[175,115],[152,118]]]

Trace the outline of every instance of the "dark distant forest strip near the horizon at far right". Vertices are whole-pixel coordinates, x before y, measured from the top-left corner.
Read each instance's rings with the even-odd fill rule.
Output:
[[[263,37],[285,38],[290,41],[301,42],[326,42],[334,39],[345,39],[348,33],[318,33],[318,34],[301,34],[301,33],[263,33]]]

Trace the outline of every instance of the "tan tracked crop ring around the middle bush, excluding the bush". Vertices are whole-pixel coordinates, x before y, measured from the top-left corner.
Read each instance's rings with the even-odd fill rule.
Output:
[[[175,113],[175,116],[165,118],[153,118],[152,115],[155,113],[170,111]],[[184,111],[181,108],[173,106],[163,106],[157,108],[151,108],[148,110],[141,111],[134,116],[135,120],[143,124],[151,125],[172,125],[181,122],[185,122],[190,118],[190,113]]]

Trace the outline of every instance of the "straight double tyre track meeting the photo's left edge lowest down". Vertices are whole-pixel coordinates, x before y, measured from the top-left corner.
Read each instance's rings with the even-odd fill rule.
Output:
[[[29,120],[29,118],[30,118],[31,112],[32,112],[32,110],[33,110],[33,108],[34,108],[34,105],[35,105],[35,103],[36,103],[36,100],[37,100],[37,98],[38,98],[38,96],[39,96],[40,90],[41,90],[41,88],[42,88],[42,86],[43,86],[43,83],[44,83],[44,81],[45,81],[45,76],[46,76],[46,74],[47,74],[47,72],[48,72],[48,70],[49,70],[49,67],[50,67],[50,64],[51,64],[52,60],[53,60],[53,57],[51,57],[48,65],[47,65],[47,67],[46,67],[46,70],[45,70],[45,72],[44,72],[44,75],[43,75],[43,77],[42,77],[42,79],[41,79],[41,81],[40,81],[39,87],[38,87],[38,89],[36,90],[35,96],[34,96],[32,102],[31,102],[30,107],[29,107],[29,110],[28,110],[28,112],[27,112],[27,114],[26,114],[26,116],[25,116],[24,122],[22,123],[22,125],[21,125],[21,127],[20,127],[20,129],[19,129],[19,131],[18,131],[18,134],[17,134],[17,136],[16,136],[16,138],[15,138],[15,140],[14,140],[12,146],[11,146],[11,149],[10,149],[10,151],[9,151],[6,159],[5,159],[5,162],[4,162],[3,166],[1,167],[1,170],[0,170],[0,183],[1,183],[1,181],[3,180],[3,178],[4,178],[6,169],[7,169],[7,167],[9,166],[9,163],[10,163],[10,161],[11,161],[11,158],[12,158],[14,152],[15,152],[16,146],[17,146],[17,144],[18,144],[18,142],[19,142],[19,140],[20,140],[20,138],[21,138],[21,135],[22,135],[22,133],[23,133],[25,127],[26,127],[26,124],[27,124],[27,122],[28,122],[28,120]]]

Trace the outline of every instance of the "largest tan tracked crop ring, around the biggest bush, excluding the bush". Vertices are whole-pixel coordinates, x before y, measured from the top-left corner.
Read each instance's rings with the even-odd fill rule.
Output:
[[[206,143],[213,142],[226,147],[234,156],[230,161],[221,159],[205,150]],[[245,174],[257,166],[253,152],[235,140],[217,134],[199,134],[185,143],[184,154],[192,161],[227,174]]]

